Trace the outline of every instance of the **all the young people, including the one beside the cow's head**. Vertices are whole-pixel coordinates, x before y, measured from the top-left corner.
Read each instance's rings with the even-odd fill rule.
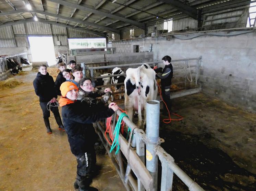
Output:
[[[173,74],[171,57],[165,56],[162,61],[165,67],[156,76],[161,78],[163,99],[170,110],[170,85]],[[47,72],[46,65],[40,65],[33,85],[35,93],[39,97],[48,134],[52,133],[48,105],[57,102],[57,96],[61,95],[59,106],[62,107],[64,126],[58,107],[49,107],[49,109],[56,119],[59,130],[65,131],[68,135],[71,152],[77,160],[74,188],[79,191],[97,191],[98,189],[90,187],[92,171],[96,164],[94,144],[97,139],[92,123],[112,116],[119,107],[114,102],[110,103],[108,107],[105,106],[112,93],[110,88],[95,91],[95,84],[90,79],[83,78],[83,69],[77,66],[75,61],[70,61],[69,66],[72,71],[66,69],[64,63],[59,63],[60,73],[54,83],[52,76]],[[97,99],[100,96],[101,98]]]

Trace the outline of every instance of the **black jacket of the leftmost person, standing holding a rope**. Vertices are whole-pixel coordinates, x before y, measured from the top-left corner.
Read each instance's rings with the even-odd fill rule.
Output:
[[[40,102],[48,102],[52,98],[57,98],[53,78],[48,72],[46,75],[42,75],[40,72],[38,72],[33,81],[33,85],[36,94],[39,96]]]

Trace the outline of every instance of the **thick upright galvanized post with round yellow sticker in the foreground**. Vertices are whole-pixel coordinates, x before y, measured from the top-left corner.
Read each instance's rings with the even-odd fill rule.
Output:
[[[153,191],[157,190],[158,156],[156,147],[159,144],[159,116],[160,102],[147,101],[147,128],[146,128],[146,167],[153,178]]]

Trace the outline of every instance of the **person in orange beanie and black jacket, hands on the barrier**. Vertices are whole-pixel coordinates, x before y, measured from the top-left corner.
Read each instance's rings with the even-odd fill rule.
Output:
[[[62,119],[68,134],[71,152],[77,160],[74,188],[78,188],[79,191],[97,191],[97,188],[89,186],[92,183],[92,170],[96,163],[94,149],[96,133],[92,123],[110,117],[119,107],[112,102],[108,108],[97,106],[89,108],[87,104],[76,100],[78,88],[72,82],[62,83],[60,91],[62,97],[59,103],[62,107]]]

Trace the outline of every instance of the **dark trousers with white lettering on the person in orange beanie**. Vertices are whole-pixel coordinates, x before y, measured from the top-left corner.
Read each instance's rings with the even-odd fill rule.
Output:
[[[92,171],[96,164],[94,142],[88,146],[84,154],[76,156],[76,161],[76,182],[81,190],[86,190],[89,188],[90,183],[92,183]]]

